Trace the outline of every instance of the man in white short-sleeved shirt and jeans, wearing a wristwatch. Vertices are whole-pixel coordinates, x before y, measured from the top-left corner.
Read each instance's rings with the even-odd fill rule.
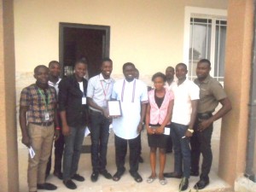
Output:
[[[165,173],[165,177],[183,177],[179,189],[186,190],[190,176],[189,138],[194,132],[196,108],[199,100],[199,87],[189,79],[187,66],[178,63],[175,67],[177,84],[172,88],[174,106],[172,111],[172,143],[174,147],[174,172]]]

